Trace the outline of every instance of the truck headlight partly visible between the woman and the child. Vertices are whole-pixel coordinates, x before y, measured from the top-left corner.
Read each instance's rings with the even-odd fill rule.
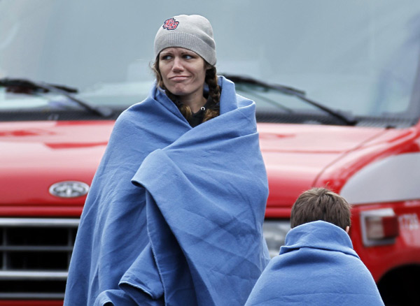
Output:
[[[262,225],[269,256],[279,255],[280,247],[284,245],[286,234],[290,231],[289,220],[265,220]]]

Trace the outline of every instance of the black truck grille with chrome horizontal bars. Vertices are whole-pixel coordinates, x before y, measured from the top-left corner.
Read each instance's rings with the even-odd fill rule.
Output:
[[[0,218],[0,300],[64,298],[78,224]]]

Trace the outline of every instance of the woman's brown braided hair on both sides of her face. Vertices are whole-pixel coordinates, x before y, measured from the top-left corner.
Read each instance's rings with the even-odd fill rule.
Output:
[[[208,68],[206,71],[206,77],[204,79],[204,82],[207,84],[207,86],[209,86],[209,96],[211,96],[211,100],[213,101],[213,103],[211,103],[207,110],[205,110],[203,122],[206,122],[220,115],[221,101],[221,87],[218,85],[216,67],[208,64],[207,62],[206,66],[209,66],[210,68]],[[190,107],[181,103],[178,99],[178,96],[172,94],[172,92],[169,92],[169,90],[166,89],[165,85],[163,84],[162,75],[160,74],[159,70],[159,57],[153,64],[152,69],[156,76],[156,80],[158,83],[157,85],[165,90],[165,93],[167,94],[169,99],[171,99],[175,103],[181,114],[184,117],[186,117],[186,119],[190,119],[190,117],[193,115],[193,112],[191,111]]]

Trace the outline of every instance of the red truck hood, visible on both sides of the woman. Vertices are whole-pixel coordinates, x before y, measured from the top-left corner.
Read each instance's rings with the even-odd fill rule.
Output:
[[[49,193],[50,186],[64,181],[90,185],[114,123],[0,123],[0,205],[81,207],[85,196],[57,198]],[[258,124],[258,131],[269,177],[267,211],[286,209],[285,215],[297,196],[313,187],[326,168],[332,168],[344,156],[356,156],[358,150],[375,140],[386,143],[403,133],[302,124]]]

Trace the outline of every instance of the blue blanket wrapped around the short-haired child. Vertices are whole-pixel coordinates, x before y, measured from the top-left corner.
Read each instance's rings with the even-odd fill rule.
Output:
[[[246,306],[383,306],[374,279],[338,226],[314,221],[291,229]]]

